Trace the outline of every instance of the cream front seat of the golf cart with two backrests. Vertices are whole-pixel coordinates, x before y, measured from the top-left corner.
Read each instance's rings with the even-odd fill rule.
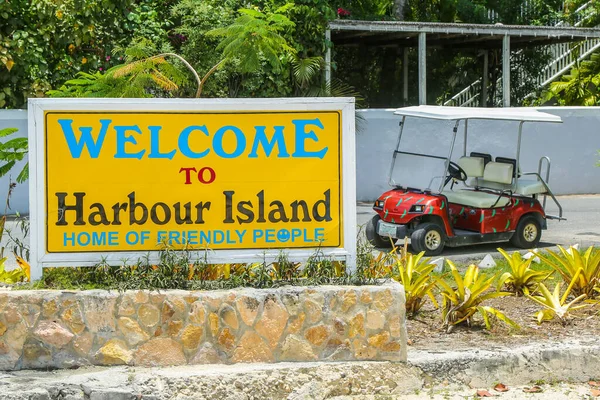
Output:
[[[488,162],[484,165],[481,157],[461,157],[458,165],[466,172],[469,178],[483,178],[489,182],[491,189],[504,190],[510,187],[513,176],[513,166],[507,163]],[[510,198],[503,197],[500,193],[483,192],[480,190],[462,189],[457,191],[444,190],[442,192],[448,202],[475,208],[505,207],[510,203]]]

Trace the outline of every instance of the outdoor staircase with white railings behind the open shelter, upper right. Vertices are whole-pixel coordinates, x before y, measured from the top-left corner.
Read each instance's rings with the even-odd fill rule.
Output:
[[[590,6],[595,0],[591,0],[588,3],[582,5],[575,10],[575,24],[574,26],[581,26],[587,19],[591,17]],[[556,26],[564,25],[563,22],[559,22]],[[569,43],[560,43],[547,46],[548,52],[551,55],[550,63],[537,76],[536,81],[538,87],[542,88],[549,83],[555,81],[565,73],[567,73],[577,62],[582,61],[589,57],[593,52],[600,49],[600,39],[592,39],[581,42],[577,45]],[[515,56],[518,57],[517,52]],[[445,101],[445,106],[458,106],[458,107],[479,107],[481,104],[481,79],[476,80],[449,100]],[[497,87],[501,88],[501,78],[498,79]],[[527,97],[531,97],[534,94],[530,94]]]

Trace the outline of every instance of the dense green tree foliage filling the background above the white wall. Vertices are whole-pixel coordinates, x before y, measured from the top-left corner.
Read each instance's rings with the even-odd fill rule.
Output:
[[[586,0],[11,0],[0,2],[0,108],[28,97],[285,97],[328,93],[324,54],[335,18],[595,26]],[[583,17],[582,17],[583,15]],[[520,85],[547,62],[544,49],[515,57]],[[396,48],[339,47],[335,87],[351,85],[367,106],[401,105]],[[490,82],[500,55],[490,57]],[[186,65],[187,64],[187,65]],[[428,101],[443,101],[480,78],[474,51],[434,49],[428,58]],[[416,71],[416,55],[409,69]],[[66,83],[66,84],[65,84]],[[199,89],[200,87],[200,89]],[[415,82],[410,83],[416,101]]]

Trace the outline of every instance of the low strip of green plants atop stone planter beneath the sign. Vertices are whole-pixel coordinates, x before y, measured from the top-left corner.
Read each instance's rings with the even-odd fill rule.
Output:
[[[35,289],[183,289],[217,290],[236,287],[272,288],[284,285],[369,285],[380,282],[372,270],[346,272],[345,264],[326,257],[321,249],[306,263],[291,262],[281,253],[274,262],[210,264],[208,251],[164,247],[158,262],[146,257],[133,265],[106,262],[87,268],[46,268]]]

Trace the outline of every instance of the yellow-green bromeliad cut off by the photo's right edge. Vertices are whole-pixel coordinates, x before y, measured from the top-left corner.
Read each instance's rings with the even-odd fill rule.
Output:
[[[561,275],[575,296],[585,294],[591,298],[597,295],[594,288],[600,286],[600,251],[593,246],[585,253],[572,246],[569,250],[561,246],[558,249],[560,252],[548,250],[536,255]]]

